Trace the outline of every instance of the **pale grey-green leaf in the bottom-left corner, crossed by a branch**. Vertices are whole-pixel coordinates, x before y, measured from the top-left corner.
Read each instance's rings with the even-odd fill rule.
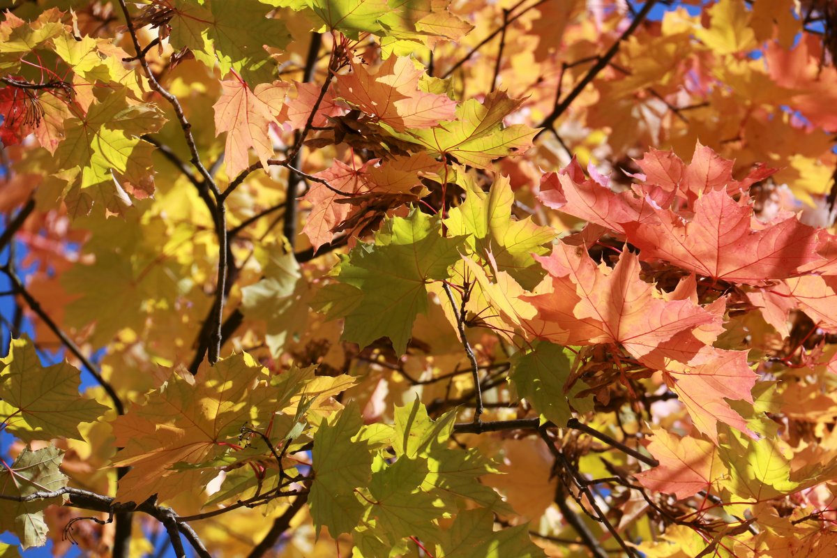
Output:
[[[24,448],[11,468],[0,470],[0,494],[28,496],[36,492],[52,492],[67,486],[67,477],[59,465],[64,452],[53,446],[31,451]],[[47,540],[44,509],[61,500],[33,499],[28,502],[0,500],[0,531],[18,535],[23,550],[43,546]]]

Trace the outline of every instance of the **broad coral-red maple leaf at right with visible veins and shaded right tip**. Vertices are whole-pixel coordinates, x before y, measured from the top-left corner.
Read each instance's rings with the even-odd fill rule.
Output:
[[[793,217],[754,226],[747,200],[736,202],[721,190],[697,200],[686,223],[675,212],[655,212],[655,223],[624,223],[644,260],[664,259],[712,279],[763,284],[799,274],[821,259],[816,229]]]

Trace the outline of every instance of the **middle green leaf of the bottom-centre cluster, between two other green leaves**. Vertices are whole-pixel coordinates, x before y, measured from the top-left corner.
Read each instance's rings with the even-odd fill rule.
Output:
[[[369,483],[373,503],[364,520],[393,543],[408,536],[432,537],[439,530],[434,520],[444,514],[444,504],[421,489],[429,474],[427,460],[402,457],[391,465],[383,463],[383,458],[377,459],[378,470]]]

